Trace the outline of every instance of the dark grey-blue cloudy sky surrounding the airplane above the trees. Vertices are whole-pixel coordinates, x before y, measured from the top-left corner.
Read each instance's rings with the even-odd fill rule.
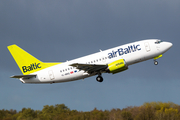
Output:
[[[22,84],[7,46],[17,44],[44,62],[65,62],[126,43],[158,38],[173,47],[154,65],[148,60],[127,71],[74,82]],[[91,111],[140,106],[144,102],[180,105],[179,0],[1,0],[0,109],[41,110],[65,104]]]

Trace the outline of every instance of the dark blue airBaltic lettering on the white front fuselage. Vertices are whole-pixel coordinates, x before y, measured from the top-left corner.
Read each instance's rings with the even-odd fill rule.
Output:
[[[127,48],[119,48],[117,51],[112,51],[111,53],[108,53],[108,58],[114,58],[117,57],[118,53],[119,56],[124,55],[124,54],[128,54],[131,52],[135,52],[135,51],[139,51],[141,50],[140,45],[130,45]]]

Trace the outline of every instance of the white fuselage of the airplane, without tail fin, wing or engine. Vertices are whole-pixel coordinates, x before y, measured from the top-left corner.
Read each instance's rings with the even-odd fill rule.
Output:
[[[40,70],[33,73],[37,74],[37,77],[20,80],[23,83],[58,83],[84,79],[95,74],[89,74],[69,65],[73,63],[105,65],[124,59],[129,66],[161,55],[171,46],[169,42],[157,43],[157,39],[133,42]]]

